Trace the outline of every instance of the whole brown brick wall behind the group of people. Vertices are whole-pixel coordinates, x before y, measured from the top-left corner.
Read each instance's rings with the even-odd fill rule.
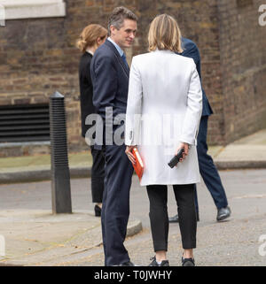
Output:
[[[200,48],[203,86],[215,111],[209,119],[208,141],[224,144],[252,133],[263,126],[266,117],[266,27],[257,24],[257,6],[262,1],[240,10],[236,3],[66,0],[66,18],[8,20],[6,27],[0,27],[0,105],[48,103],[59,90],[66,97],[69,149],[87,149],[80,127],[77,72],[81,54],[74,43],[83,27],[90,23],[106,26],[113,8],[125,5],[139,17],[137,39],[126,51],[129,62],[133,55],[146,51],[146,33],[153,17],[162,12],[174,15],[183,35]]]

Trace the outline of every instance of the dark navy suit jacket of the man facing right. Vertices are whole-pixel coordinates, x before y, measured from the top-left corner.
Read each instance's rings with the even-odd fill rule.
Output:
[[[108,121],[118,114],[125,118],[129,90],[129,67],[125,65],[112,42],[106,40],[96,50],[90,64],[90,76],[93,84],[92,101],[96,113],[104,122],[105,142],[106,117]],[[112,107],[113,114],[106,112],[106,107]],[[117,127],[119,126],[113,126],[113,131]],[[95,148],[101,149],[97,144]]]

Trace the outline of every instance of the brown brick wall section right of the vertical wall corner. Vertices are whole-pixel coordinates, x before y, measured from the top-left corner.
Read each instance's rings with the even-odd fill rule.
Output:
[[[258,9],[265,1],[218,1],[225,141],[266,127],[266,27]]]

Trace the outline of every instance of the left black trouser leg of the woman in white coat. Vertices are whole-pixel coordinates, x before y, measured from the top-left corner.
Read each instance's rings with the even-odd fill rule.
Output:
[[[168,187],[147,186],[154,251],[168,250]]]

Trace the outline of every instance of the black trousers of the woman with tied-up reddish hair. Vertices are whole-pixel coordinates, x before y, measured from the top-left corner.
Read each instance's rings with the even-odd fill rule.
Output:
[[[105,157],[102,150],[90,146],[92,156],[91,196],[93,203],[102,203],[105,188]]]

